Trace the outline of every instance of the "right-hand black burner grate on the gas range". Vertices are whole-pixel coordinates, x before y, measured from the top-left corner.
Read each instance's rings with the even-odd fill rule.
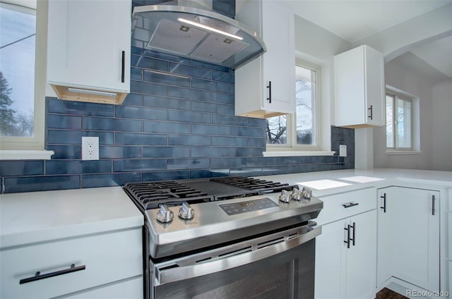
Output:
[[[247,178],[244,176],[226,176],[222,178],[211,178],[210,181],[232,185],[246,190],[260,190],[261,194],[275,193],[280,190],[292,190],[297,185],[289,185],[287,183],[275,183],[273,181],[259,180],[258,178]]]

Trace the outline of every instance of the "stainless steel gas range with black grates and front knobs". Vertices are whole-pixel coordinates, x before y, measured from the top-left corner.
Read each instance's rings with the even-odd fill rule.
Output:
[[[145,298],[314,298],[312,221],[297,185],[224,177],[126,183],[145,216]]]

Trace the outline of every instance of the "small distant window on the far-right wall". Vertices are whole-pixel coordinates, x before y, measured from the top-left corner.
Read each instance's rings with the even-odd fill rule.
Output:
[[[386,93],[386,148],[412,150],[412,102]]]

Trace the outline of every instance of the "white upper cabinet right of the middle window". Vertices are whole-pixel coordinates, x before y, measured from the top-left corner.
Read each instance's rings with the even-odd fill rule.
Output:
[[[335,126],[385,124],[384,57],[362,45],[334,56]]]

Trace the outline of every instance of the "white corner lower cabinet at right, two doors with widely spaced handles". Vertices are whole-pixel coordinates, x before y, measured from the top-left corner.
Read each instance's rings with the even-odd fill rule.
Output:
[[[395,277],[439,291],[439,192],[378,190],[377,286]]]

